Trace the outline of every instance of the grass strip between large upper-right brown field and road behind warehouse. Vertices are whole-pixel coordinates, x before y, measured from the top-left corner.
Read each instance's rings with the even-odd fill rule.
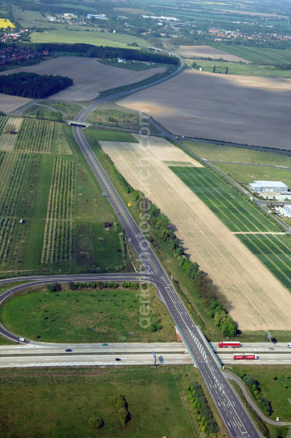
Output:
[[[240,161],[246,163],[273,164],[275,166],[291,167],[290,155],[280,152],[252,151],[246,148],[235,148],[228,145],[203,143],[199,141],[184,141],[184,145],[201,157],[212,160]]]

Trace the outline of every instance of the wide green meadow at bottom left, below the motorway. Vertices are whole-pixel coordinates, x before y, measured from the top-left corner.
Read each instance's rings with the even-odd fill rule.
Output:
[[[182,397],[195,381],[203,385],[193,366],[1,369],[1,436],[192,438],[199,426]],[[117,394],[128,403],[125,427],[108,403]],[[101,431],[88,424],[91,416],[102,418]]]

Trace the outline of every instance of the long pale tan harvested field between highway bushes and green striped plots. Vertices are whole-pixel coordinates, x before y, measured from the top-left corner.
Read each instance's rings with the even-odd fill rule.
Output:
[[[291,294],[163,161],[192,162],[197,167],[200,163],[163,139],[149,140],[148,196],[177,227],[177,236],[191,259],[220,286],[239,328],[289,329]],[[100,144],[126,180],[144,190],[140,168],[135,166],[144,158],[140,145],[111,141]]]

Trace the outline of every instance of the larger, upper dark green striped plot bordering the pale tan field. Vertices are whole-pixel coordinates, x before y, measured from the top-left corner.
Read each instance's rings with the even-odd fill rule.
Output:
[[[280,231],[245,198],[205,167],[169,166],[231,231]]]

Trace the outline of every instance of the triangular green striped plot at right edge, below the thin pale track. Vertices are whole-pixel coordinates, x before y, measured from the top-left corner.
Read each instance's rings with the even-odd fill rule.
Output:
[[[291,292],[291,240],[272,234],[236,235]]]

